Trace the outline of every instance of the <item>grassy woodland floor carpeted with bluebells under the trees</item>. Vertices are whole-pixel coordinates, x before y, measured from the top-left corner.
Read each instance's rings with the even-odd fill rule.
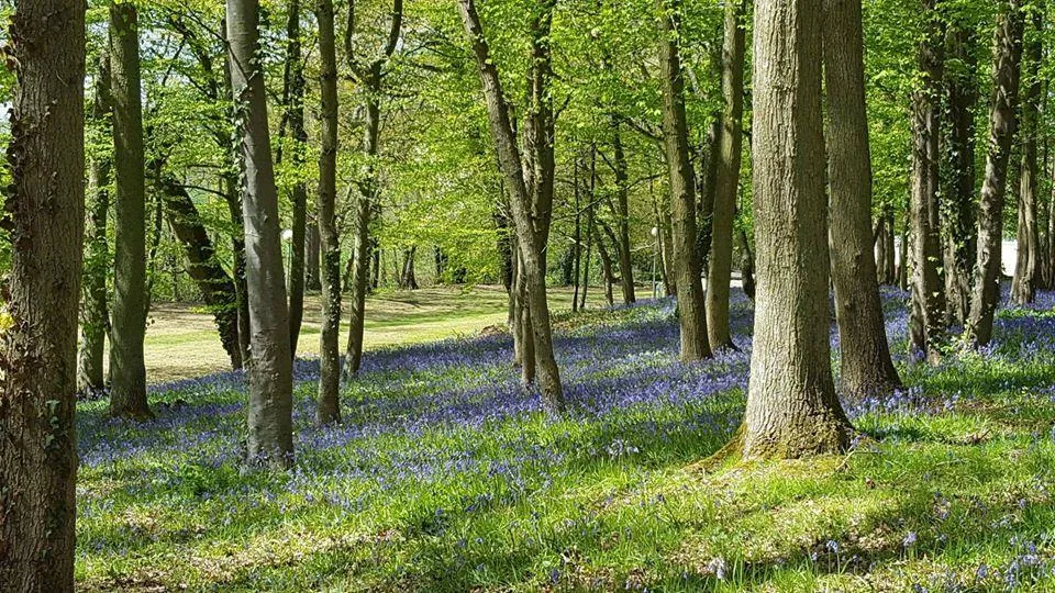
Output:
[[[885,292],[898,353],[906,300]],[[696,365],[670,301],[557,315],[560,417],[520,388],[508,336],[455,315],[462,337],[371,350],[340,427],[311,426],[301,362],[290,472],[241,469],[240,374],[155,387],[147,424],[86,401],[78,586],[1055,591],[1053,305],[1003,309],[992,347],[936,368],[899,355],[903,391],[843,402],[852,451],[802,462],[699,463],[742,417],[740,292],[741,350]]]

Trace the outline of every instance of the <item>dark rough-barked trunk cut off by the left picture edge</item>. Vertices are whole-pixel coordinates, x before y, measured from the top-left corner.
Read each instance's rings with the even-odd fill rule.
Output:
[[[85,2],[19,0],[0,334],[0,583],[73,591],[77,303],[85,230]]]

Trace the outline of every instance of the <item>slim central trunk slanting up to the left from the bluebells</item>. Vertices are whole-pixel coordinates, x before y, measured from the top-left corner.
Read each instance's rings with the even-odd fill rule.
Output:
[[[487,101],[491,136],[504,176],[513,223],[517,228],[518,255],[523,270],[523,282],[528,289],[528,302],[524,303],[524,309],[526,309],[532,321],[532,339],[525,339],[524,343],[531,343],[535,350],[534,357],[531,358],[538,366],[538,387],[542,391],[543,403],[552,411],[560,411],[565,405],[564,391],[553,354],[549,305],[546,301],[545,259],[543,258],[543,245],[540,240],[541,236],[545,236],[547,233],[538,233],[538,228],[532,220],[532,200],[528,191],[526,176],[509,118],[509,105],[502,92],[498,69],[489,55],[490,49],[484,37],[476,2],[475,0],[458,0],[458,8],[479,68],[484,96]],[[552,4],[547,4],[546,8],[552,9]],[[547,15],[544,18],[548,20],[552,12],[549,10],[546,10],[546,12]],[[542,82],[545,82],[545,80],[542,80]],[[543,93],[546,91],[544,88],[541,90]],[[541,99],[541,94],[537,99]],[[552,145],[549,145],[549,148],[552,149]],[[538,181],[543,180],[536,180],[536,184]],[[540,212],[545,213],[548,217],[548,209],[536,210],[535,214]],[[526,354],[524,358],[528,358]]]

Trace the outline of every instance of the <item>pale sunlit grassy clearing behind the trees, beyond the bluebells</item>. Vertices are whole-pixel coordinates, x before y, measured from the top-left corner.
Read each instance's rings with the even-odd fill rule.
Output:
[[[591,306],[600,306],[604,293],[587,291]],[[571,309],[571,291],[551,289],[555,311]],[[347,307],[347,305],[345,305]],[[501,287],[436,287],[415,291],[386,291],[371,295],[366,305],[366,348],[420,344],[468,336],[506,321],[507,298]],[[304,299],[304,323],[298,356],[319,356],[322,300],[318,293]],[[347,339],[347,313],[341,331],[341,347]],[[152,384],[221,372],[230,361],[212,315],[188,303],[157,303],[151,310],[146,331],[146,374]]]

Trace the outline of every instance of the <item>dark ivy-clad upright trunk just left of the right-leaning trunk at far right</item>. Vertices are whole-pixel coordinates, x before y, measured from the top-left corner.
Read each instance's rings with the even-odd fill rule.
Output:
[[[948,67],[945,72],[946,115],[944,138],[945,204],[944,266],[948,315],[954,323],[967,321],[970,309],[970,282],[975,268],[977,198],[975,195],[975,105],[978,85],[975,79],[976,36],[955,21],[946,35]]]

